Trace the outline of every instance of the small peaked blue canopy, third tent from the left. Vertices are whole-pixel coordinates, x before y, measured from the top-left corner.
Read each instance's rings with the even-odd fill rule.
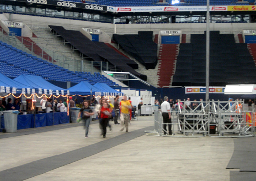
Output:
[[[94,87],[89,82],[82,81],[76,84],[73,87],[68,88],[69,93],[72,94],[80,94],[80,95],[101,95],[102,90],[99,88]]]

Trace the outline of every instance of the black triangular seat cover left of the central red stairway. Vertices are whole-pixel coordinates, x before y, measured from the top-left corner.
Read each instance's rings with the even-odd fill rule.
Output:
[[[138,35],[113,34],[113,39],[146,69],[157,65],[157,44],[153,42],[153,31],[139,31]]]

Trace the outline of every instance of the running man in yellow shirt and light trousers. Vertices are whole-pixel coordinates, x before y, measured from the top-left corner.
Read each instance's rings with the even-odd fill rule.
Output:
[[[126,132],[128,132],[128,125],[129,125],[129,119],[130,119],[130,114],[129,114],[129,109],[132,109],[131,104],[129,101],[127,101],[127,96],[124,95],[123,101],[120,103],[120,110],[121,110],[121,115],[120,115],[120,120],[121,120],[121,130],[124,130],[124,125],[126,128]]]

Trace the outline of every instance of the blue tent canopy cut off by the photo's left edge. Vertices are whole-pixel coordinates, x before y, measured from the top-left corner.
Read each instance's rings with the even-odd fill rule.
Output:
[[[0,86],[10,87],[11,88],[10,92],[12,92],[12,87],[15,87],[16,93],[21,93],[22,88],[31,88],[30,86],[17,82],[13,79],[10,79],[1,73],[0,73]],[[6,88],[5,88],[5,92],[6,92]]]

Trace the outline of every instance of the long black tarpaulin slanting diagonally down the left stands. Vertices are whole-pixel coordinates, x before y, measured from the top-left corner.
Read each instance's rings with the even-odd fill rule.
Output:
[[[61,26],[49,25],[50,28],[65,41],[69,42],[74,48],[83,55],[93,59],[96,62],[109,62],[109,69],[117,68],[123,72],[130,72],[143,80],[147,80],[147,76],[133,70],[138,69],[138,64],[131,59],[118,54],[112,48],[103,42],[93,42],[84,36],[80,31],[66,30]]]

